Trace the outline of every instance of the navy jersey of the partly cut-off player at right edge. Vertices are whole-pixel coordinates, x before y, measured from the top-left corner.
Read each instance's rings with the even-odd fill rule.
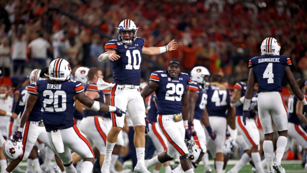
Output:
[[[307,97],[304,95],[305,98]],[[292,122],[294,124],[301,124],[301,120],[296,114],[296,105],[298,103],[298,98],[295,95],[290,95],[288,99],[288,122]]]

